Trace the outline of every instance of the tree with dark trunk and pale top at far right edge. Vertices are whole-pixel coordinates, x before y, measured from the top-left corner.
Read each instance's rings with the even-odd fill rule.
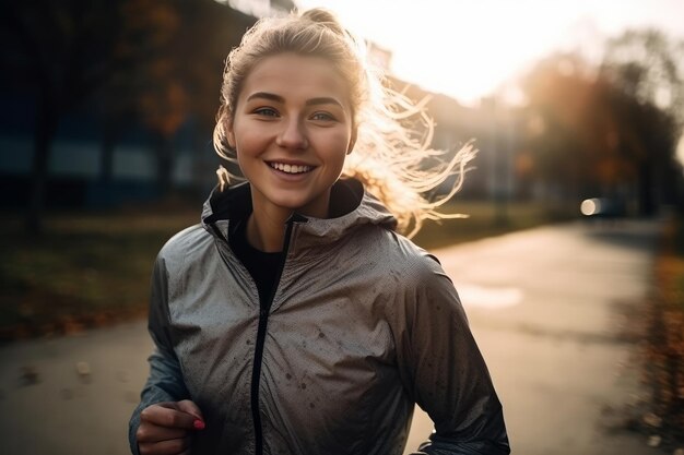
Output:
[[[602,76],[623,99],[621,147],[640,159],[644,213],[652,213],[659,202],[677,202],[672,189],[680,185],[672,180],[682,177],[675,148],[684,127],[683,71],[684,43],[654,29],[627,31],[611,39],[601,65]]]

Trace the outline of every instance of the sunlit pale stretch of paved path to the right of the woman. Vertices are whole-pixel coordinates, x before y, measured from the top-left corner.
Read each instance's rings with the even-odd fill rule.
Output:
[[[657,454],[605,429],[642,391],[626,318],[644,303],[659,224],[573,224],[437,252],[504,404],[512,453]],[[620,414],[617,414],[620,416]],[[411,443],[429,432],[418,412]]]

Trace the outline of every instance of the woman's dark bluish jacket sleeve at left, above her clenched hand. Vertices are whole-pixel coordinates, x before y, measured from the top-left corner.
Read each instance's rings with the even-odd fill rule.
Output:
[[[148,359],[150,376],[140,394],[140,404],[129,422],[128,440],[133,455],[139,455],[135,432],[140,426],[142,410],[155,403],[179,402],[189,398],[169,333],[168,279],[161,255],[155,262],[152,274],[148,328],[155,349]]]

